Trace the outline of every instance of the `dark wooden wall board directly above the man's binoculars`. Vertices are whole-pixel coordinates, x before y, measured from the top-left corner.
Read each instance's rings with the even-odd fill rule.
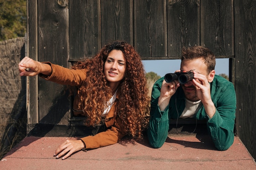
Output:
[[[168,56],[181,56],[183,46],[199,45],[200,2],[168,0],[167,25]]]

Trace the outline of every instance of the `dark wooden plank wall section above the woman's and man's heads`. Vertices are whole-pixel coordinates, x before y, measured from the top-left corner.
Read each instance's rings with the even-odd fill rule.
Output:
[[[114,40],[130,42],[144,60],[180,58],[183,46],[199,44],[217,56],[234,55],[232,1],[86,0],[66,8],[70,61]]]

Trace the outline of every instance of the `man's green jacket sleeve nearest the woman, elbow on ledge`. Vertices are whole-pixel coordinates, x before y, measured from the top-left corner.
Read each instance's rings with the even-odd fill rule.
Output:
[[[169,105],[164,111],[160,111],[158,106],[158,98],[162,86],[162,80],[159,79],[153,86],[150,103],[150,121],[147,130],[148,140],[153,148],[160,148],[168,136],[169,118],[168,110]]]

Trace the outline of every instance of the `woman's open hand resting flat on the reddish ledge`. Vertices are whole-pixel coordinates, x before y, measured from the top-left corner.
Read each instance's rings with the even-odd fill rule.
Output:
[[[72,153],[82,150],[84,147],[85,146],[81,140],[67,139],[60,146],[58,146],[58,148],[56,149],[56,151],[54,153],[54,156],[56,156],[56,158],[60,158],[64,155],[62,157],[62,159],[66,159]]]

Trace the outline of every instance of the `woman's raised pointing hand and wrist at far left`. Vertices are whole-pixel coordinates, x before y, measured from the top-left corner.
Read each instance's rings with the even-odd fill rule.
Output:
[[[20,76],[35,76],[42,73],[46,76],[52,74],[52,67],[49,64],[36,62],[29,57],[24,57],[18,64]]]

